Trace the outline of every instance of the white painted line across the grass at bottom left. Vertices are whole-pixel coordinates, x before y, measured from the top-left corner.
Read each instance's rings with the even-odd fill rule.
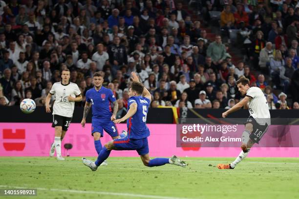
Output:
[[[16,188],[16,189],[37,189],[43,191],[59,191],[59,192],[68,192],[76,194],[102,194],[110,196],[127,196],[127,197],[139,197],[139,198],[148,198],[148,199],[190,199],[190,198],[177,198],[177,197],[167,197],[167,196],[154,196],[154,195],[142,195],[142,194],[129,194],[129,193],[116,193],[116,192],[104,192],[104,191],[82,191],[82,190],[69,190],[69,189],[55,189],[55,188],[28,188],[28,187],[18,187],[18,186],[8,186],[0,185],[0,187],[7,188]]]

